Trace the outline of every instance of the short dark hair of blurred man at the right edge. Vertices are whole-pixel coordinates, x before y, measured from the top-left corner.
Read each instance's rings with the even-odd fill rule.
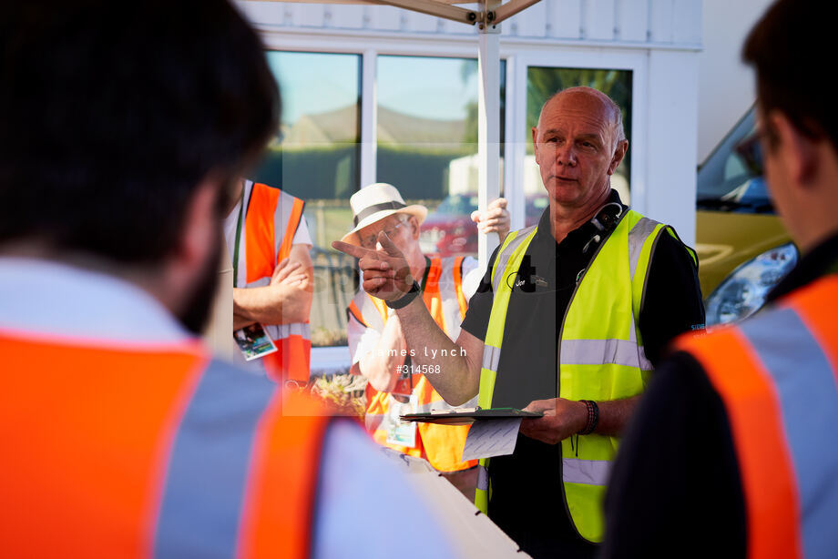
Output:
[[[762,114],[784,113],[802,134],[838,147],[838,113],[827,85],[836,8],[819,0],[780,0],[762,15],[742,48],[756,68]],[[825,76],[822,79],[822,76]],[[768,137],[774,134],[766,129]]]

